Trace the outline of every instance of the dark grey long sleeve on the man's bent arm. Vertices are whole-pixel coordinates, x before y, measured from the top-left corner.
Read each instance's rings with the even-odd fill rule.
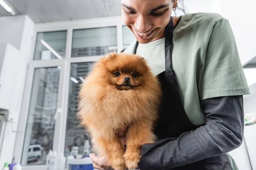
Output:
[[[178,138],[144,144],[141,170],[163,170],[221,155],[240,146],[244,132],[243,96],[204,99],[206,124]]]

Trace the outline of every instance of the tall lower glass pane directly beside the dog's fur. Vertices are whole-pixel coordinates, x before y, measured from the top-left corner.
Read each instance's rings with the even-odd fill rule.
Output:
[[[90,71],[93,62],[74,63],[70,67],[70,83],[67,109],[67,127],[65,139],[65,156],[71,154],[73,146],[79,147],[79,154],[90,153],[90,140],[84,127],[79,126],[80,121],[75,119],[77,111],[77,95],[81,82]]]

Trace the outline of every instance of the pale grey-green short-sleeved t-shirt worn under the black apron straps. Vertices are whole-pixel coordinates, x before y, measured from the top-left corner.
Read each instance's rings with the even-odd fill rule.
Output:
[[[135,42],[125,53],[133,52]],[[165,71],[164,42],[162,38],[137,48],[155,75]],[[220,15],[183,15],[174,29],[172,54],[181,101],[194,125],[206,122],[204,99],[250,94],[232,29]]]

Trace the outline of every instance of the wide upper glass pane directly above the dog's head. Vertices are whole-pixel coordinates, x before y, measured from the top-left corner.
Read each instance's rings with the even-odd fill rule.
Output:
[[[73,31],[71,57],[99,56],[116,50],[116,27]]]

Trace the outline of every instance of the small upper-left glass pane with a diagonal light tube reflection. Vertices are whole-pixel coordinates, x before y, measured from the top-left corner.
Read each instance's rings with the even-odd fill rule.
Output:
[[[40,32],[35,44],[35,60],[65,58],[67,31]]]

